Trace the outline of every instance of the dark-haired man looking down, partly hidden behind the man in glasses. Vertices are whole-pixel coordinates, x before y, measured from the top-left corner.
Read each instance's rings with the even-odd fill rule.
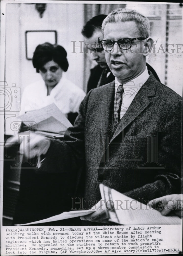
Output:
[[[95,60],[97,65],[90,70],[90,77],[87,84],[87,92],[91,89],[112,82],[115,77],[107,66],[105,53],[98,44],[98,38],[102,39],[102,22],[107,17],[105,14],[99,14],[85,24],[82,29],[82,35],[85,38],[87,52],[90,53],[90,59]],[[148,71],[152,72],[154,77],[160,82],[156,71],[146,63]]]

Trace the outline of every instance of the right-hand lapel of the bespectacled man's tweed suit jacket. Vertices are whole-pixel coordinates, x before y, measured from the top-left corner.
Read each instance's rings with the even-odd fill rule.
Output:
[[[117,129],[111,138],[111,141],[113,141],[116,136],[118,136],[136,116],[138,116],[144,109],[147,108],[148,104],[151,102],[151,98],[155,95],[156,86],[157,81],[154,76],[151,75],[136,94],[127,112],[120,120]]]

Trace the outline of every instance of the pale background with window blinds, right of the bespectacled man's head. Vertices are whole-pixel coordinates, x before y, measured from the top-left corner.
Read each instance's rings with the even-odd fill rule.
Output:
[[[182,96],[182,7],[175,4],[127,4],[150,20],[150,36],[154,40],[155,51],[147,57],[147,62],[155,69],[161,82]],[[166,52],[167,44],[168,53]],[[171,53],[172,52],[172,53]]]

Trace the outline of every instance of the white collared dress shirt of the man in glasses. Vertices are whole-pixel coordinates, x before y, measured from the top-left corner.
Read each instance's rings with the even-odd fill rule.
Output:
[[[142,74],[140,74],[138,77],[135,77],[133,80],[123,84],[124,92],[122,95],[120,119],[126,113],[127,109],[129,108],[130,104],[132,103],[133,99],[135,98],[135,95],[138,93],[138,91],[143,86],[143,84],[147,81],[148,78],[149,78],[149,74],[148,74],[148,70],[146,67],[144,72]],[[115,77],[115,97],[116,97],[116,92],[117,92],[118,86],[120,84],[121,83]]]

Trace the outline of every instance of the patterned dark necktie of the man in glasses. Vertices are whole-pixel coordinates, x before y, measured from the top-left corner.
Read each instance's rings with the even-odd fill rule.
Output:
[[[117,89],[116,98],[114,102],[114,124],[118,125],[121,114],[122,94],[124,92],[123,85],[120,84]]]

